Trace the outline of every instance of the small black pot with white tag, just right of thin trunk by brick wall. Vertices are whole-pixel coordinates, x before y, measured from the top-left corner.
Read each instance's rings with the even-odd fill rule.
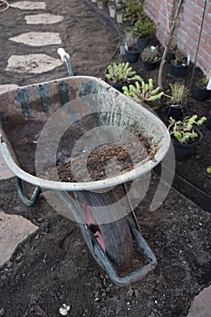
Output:
[[[171,72],[175,77],[182,77],[187,72],[189,66],[189,57],[177,50],[175,52],[175,59],[171,61]]]

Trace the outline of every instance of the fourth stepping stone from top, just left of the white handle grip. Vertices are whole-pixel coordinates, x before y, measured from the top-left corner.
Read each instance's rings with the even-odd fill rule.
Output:
[[[63,62],[46,54],[37,53],[12,55],[7,63],[5,70],[8,72],[43,73],[52,71],[54,68],[61,66]]]

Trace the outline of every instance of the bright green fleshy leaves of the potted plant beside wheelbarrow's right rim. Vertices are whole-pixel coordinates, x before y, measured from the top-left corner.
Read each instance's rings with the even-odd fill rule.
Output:
[[[187,144],[195,141],[198,138],[197,131],[194,126],[200,126],[206,121],[206,117],[197,119],[197,114],[192,117],[184,118],[183,120],[174,120],[172,117],[169,119],[168,130],[173,138],[182,144]]]

